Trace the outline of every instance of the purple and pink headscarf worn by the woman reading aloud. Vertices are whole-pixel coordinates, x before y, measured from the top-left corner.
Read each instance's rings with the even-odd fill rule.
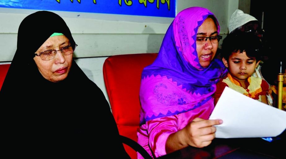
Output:
[[[208,9],[190,7],[169,26],[158,57],[142,72],[140,125],[196,109],[212,99],[216,83],[227,69],[219,59],[208,67],[199,63],[196,34],[209,15],[213,13]]]

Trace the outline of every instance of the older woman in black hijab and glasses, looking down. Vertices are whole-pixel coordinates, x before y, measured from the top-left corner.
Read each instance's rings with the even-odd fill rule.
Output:
[[[103,92],[73,60],[76,46],[55,13],[38,11],[20,24],[17,50],[0,92],[6,152],[46,155],[72,148],[67,155],[85,150],[128,158]]]

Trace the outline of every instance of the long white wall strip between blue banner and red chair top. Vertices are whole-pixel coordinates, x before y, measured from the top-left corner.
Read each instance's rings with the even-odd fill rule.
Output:
[[[21,13],[17,13],[19,10]],[[35,11],[0,8],[0,61],[12,60],[16,51],[18,27],[27,15]],[[173,20],[163,17],[53,12],[62,16],[70,28],[78,44],[75,56],[79,58],[158,52]]]

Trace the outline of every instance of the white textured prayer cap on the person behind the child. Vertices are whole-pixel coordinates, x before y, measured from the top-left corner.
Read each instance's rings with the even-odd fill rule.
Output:
[[[249,15],[249,14],[245,14],[243,11],[237,9],[235,10],[232,15],[231,15],[231,19],[229,19],[228,22],[228,31],[232,32],[234,29],[250,22],[253,20],[257,20],[256,18],[254,18],[253,16]],[[257,20],[258,21],[258,20]]]

